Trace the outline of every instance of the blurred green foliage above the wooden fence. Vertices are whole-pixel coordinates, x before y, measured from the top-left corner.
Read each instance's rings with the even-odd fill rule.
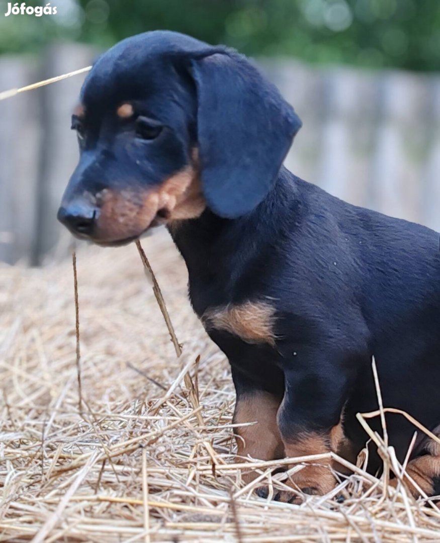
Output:
[[[1,2],[6,11],[7,2]],[[0,52],[35,52],[57,39],[108,47],[132,34],[167,28],[249,55],[440,70],[440,0],[53,0],[52,5],[56,16],[0,14]]]

